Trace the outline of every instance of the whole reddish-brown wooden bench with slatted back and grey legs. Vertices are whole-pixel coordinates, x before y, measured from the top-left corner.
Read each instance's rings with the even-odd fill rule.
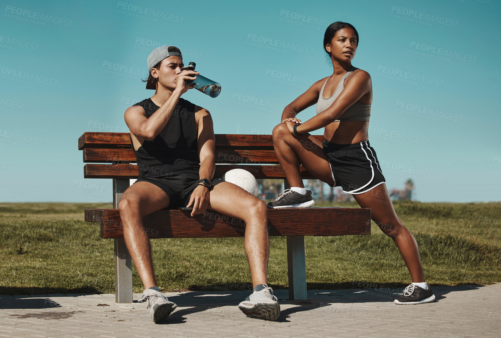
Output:
[[[323,141],[323,136],[316,136]],[[256,178],[285,179],[273,150],[271,135],[215,135],[215,173],[241,168]],[[85,209],[85,220],[101,224],[101,238],[114,239],[115,299],[132,302],[132,260],[125,246],[118,203],[137,178],[136,157],[128,133],[86,132],[78,140],[83,150],[84,178],[113,179],[113,209]],[[92,164],[91,164],[92,163]],[[100,164],[96,164],[100,163]],[[103,164],[107,163],[107,164]],[[303,178],[313,178],[301,167]],[[286,188],[289,188],[285,180]],[[269,209],[270,236],[287,237],[289,296],[307,299],[305,235],[341,236],[370,234],[371,210],[366,208]],[[243,236],[245,223],[207,210],[194,217],[188,211],[160,210],[144,218],[150,238],[236,237]]]

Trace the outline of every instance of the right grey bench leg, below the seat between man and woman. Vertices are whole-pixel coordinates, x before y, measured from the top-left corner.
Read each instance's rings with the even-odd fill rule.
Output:
[[[305,236],[287,237],[287,265],[289,271],[289,299],[306,300]]]

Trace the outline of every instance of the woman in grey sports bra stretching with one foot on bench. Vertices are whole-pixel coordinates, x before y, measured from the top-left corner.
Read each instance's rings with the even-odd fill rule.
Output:
[[[310,207],[315,203],[303,185],[300,163],[330,186],[340,185],[362,208],[371,208],[372,220],[394,240],[409,269],[412,284],[395,303],[427,303],[435,296],[424,281],[416,240],[395,213],[376,152],[369,145],[372,83],[369,73],[351,64],[357,46],[358,33],[352,25],[335,22],[327,28],[324,50],[334,72],[289,104],[282,113],[282,123],[273,130],[275,153],[291,189],[268,207]],[[304,123],[296,118],[314,104],[315,117]],[[323,127],[325,141],[321,143],[309,132]]]

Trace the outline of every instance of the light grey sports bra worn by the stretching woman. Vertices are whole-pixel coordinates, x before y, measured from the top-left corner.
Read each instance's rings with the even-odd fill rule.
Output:
[[[341,79],[341,81],[339,81],[339,85],[336,88],[336,91],[334,92],[334,94],[332,94],[332,96],[328,99],[324,98],[324,88],[325,88],[325,85],[327,84],[327,81],[329,81],[329,79],[331,77],[329,77],[329,79],[327,79],[327,81],[322,86],[322,89],[320,90],[320,95],[318,97],[318,102],[317,102],[317,114],[322,113],[324,110],[329,108],[334,103],[334,100],[336,100],[338,98],[339,94],[341,94],[341,92],[343,91],[344,81],[346,80],[348,75],[350,75],[351,73],[353,73],[353,71],[355,71],[357,69],[358,68],[353,67],[353,66],[350,68],[348,73],[346,73],[345,76],[343,76],[343,78]],[[339,121],[369,121],[370,116],[371,116],[371,105],[367,105],[365,103],[357,101],[351,107],[348,107],[348,109],[343,114],[341,114],[341,116],[339,116],[338,119],[334,122],[339,122]]]

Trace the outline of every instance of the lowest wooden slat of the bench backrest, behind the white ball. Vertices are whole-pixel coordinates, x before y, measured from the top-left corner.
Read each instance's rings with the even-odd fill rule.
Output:
[[[314,179],[303,166],[299,167],[301,177]],[[284,169],[277,165],[216,165],[214,177],[218,178],[231,169],[244,169],[260,178],[285,178]],[[86,164],[84,165],[84,178],[137,178],[137,165],[132,164]]]

